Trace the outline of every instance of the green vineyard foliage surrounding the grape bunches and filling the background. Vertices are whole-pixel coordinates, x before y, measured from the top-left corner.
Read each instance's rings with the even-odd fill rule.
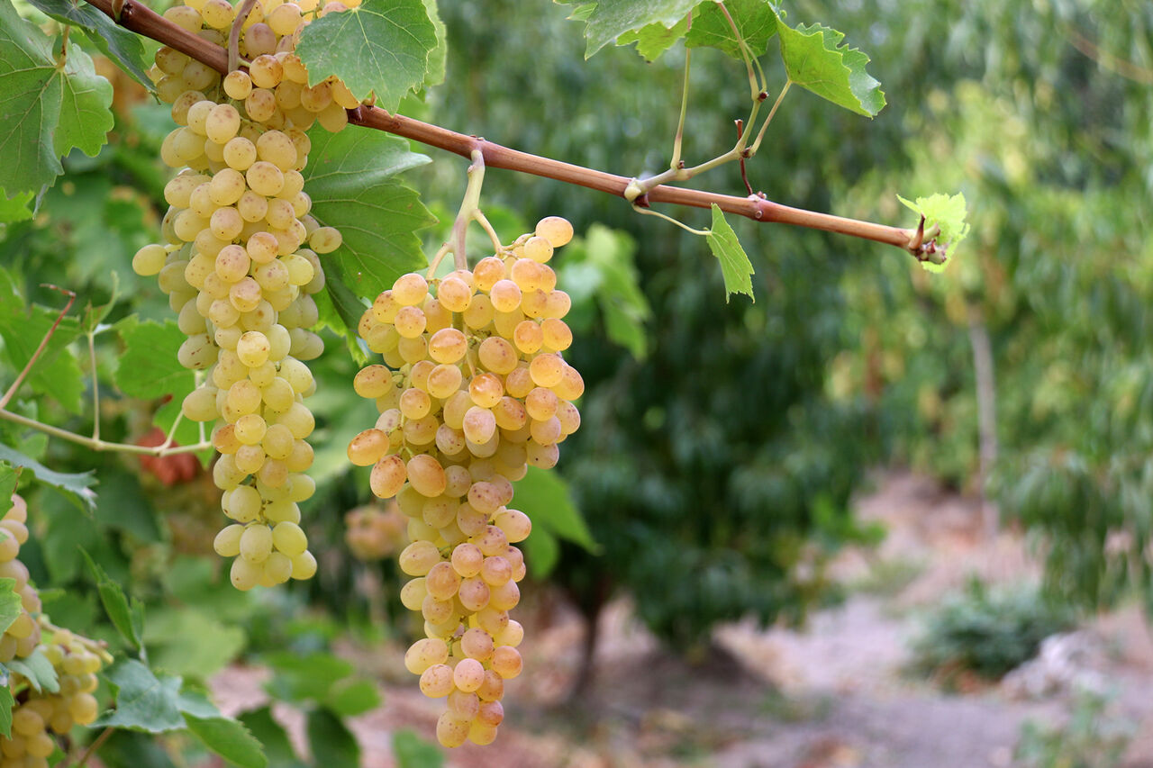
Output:
[[[905,227],[917,216],[897,194],[962,190],[974,206],[958,264],[932,276],[875,243],[679,209],[710,228],[702,239],[617,197],[490,170],[482,205],[504,242],[551,213],[576,226],[551,265],[572,296],[566,360],[587,385],[583,424],[562,479],[532,473],[515,491],[534,520],[523,548],[538,588],[563,586],[589,617],[630,594],[680,648],[724,620],[800,619],[830,594],[828,558],[876,535],[849,513],[867,467],[897,460],[978,484],[984,330],[998,443],[989,492],[1043,534],[1050,586],[1087,604],[1135,586],[1153,595],[1151,255],[1132,203],[1150,195],[1144,9],[868,0],[830,14],[729,0],[738,40],[711,0],[537,5],[366,0],[361,23],[331,14],[297,50],[310,73],[372,91],[385,110],[641,179],[668,167],[686,52],[685,156],[732,146],[731,120],[749,110],[747,51],[766,69],[766,110],[790,84],[747,161],[754,191]],[[394,596],[377,604],[355,589],[370,573],[395,595],[391,559],[360,563],[345,544],[342,512],[371,499],[368,469],[345,449],[377,417],[352,389],[368,361],[356,326],[363,300],[450,238],[465,161],[366,128],[310,134],[314,214],[345,234],[323,257],[325,354],[311,362],[317,491],[304,517],[319,571],[236,593],[211,552],[210,451],[138,458],[28,426],[90,436],[99,416],[100,441],[155,445],[193,389],[167,301],[130,266],[166,208],[157,158],[173,125],[145,76],[157,46],[84,2],[0,0],[5,390],[37,355],[0,406],[16,417],[0,420],[0,499],[18,489],[29,500],[21,559],[44,611],[115,653],[101,703],[148,692],[146,706],[98,721],[115,726],[105,765],[203,750],[307,765],[269,707],[231,720],[204,697],[239,658],[269,665],[271,699],[307,711],[312,765],[355,765],[344,718],[378,697],[331,642],[347,623],[374,639],[420,633]],[[366,46],[387,54],[346,55]],[[736,163],[691,186],[745,194]],[[470,231],[474,261],[487,248]],[[55,286],[76,301],[37,353],[67,302]],[[187,420],[174,438],[202,442]],[[395,618],[368,622],[380,613]],[[394,746],[435,760],[409,735]]]

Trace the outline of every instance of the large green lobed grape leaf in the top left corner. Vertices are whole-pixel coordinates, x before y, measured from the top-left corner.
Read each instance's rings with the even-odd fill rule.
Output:
[[[58,66],[59,44],[0,0],[0,166],[8,194],[51,185],[63,173],[61,156],[76,146],[95,156],[112,130],[112,84],[76,45]]]

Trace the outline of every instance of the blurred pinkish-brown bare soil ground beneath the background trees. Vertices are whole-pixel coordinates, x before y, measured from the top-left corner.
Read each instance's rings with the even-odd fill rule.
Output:
[[[1008,768],[1022,724],[1067,717],[1068,691],[1040,699],[1007,686],[945,693],[909,676],[907,640],[927,607],[972,574],[989,582],[1034,579],[1019,535],[985,541],[980,504],[913,475],[880,476],[858,503],[889,536],[874,552],[847,552],[841,580],[858,588],[801,631],[722,627],[715,649],[689,664],[661,650],[625,602],[601,623],[596,673],[575,703],[583,626],[537,595],[521,609],[526,673],[506,691],[497,745],[464,747],[452,768]],[[1138,728],[1126,768],[1153,768],[1153,641],[1136,610],[1087,627],[1107,649],[1094,671],[1117,695],[1116,716]],[[432,738],[439,701],[416,690],[401,648],[376,650],[384,705],[356,718],[367,768],[391,768],[391,735]],[[235,670],[218,693],[240,705],[258,679]],[[227,688],[227,690],[225,690]],[[292,721],[292,713],[281,713]],[[299,732],[299,729],[297,729]]]

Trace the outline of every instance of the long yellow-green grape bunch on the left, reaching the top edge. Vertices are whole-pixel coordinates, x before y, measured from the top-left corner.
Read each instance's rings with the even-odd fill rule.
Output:
[[[213,480],[234,522],[216,551],[234,557],[239,589],[308,579],[316,558],[300,526],[297,504],[315,483],[307,438],[315,421],[303,399],[316,390],[304,361],[324,349],[307,329],[317,322],[312,294],[324,287],[317,254],[340,246],[340,233],[309,214],[301,171],[314,122],[347,125],[359,101],[338,80],[308,85],[293,52],[312,18],[357,5],[261,0],[241,22],[239,54],[250,63],[226,77],[169,47],[150,75],[172,104],[178,128],[161,159],[184,167],[165,187],[165,243],[137,251],[133,268],[158,277],[188,339],[182,366],[205,371],[183,401],[183,415],[217,421],[220,452]],[[165,17],[224,45],[236,22],[227,0],[187,0]],[[307,247],[306,247],[307,244]]]

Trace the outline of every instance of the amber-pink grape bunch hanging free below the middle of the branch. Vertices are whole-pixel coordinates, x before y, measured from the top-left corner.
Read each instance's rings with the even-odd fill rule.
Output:
[[[557,444],[580,426],[572,401],[585,385],[563,356],[571,302],[547,264],[571,238],[568,221],[549,217],[473,271],[432,286],[405,274],[359,326],[385,364],[354,381],[380,416],[348,458],[371,466],[372,492],[409,518],[400,569],[415,578],[400,597],[422,613],[425,638],[405,664],[425,695],[447,697],[445,746],[491,743],[504,682],[521,670],[523,630],[508,611],[525,560],[513,544],[532,524],[508,505],[513,481],[556,465]]]

